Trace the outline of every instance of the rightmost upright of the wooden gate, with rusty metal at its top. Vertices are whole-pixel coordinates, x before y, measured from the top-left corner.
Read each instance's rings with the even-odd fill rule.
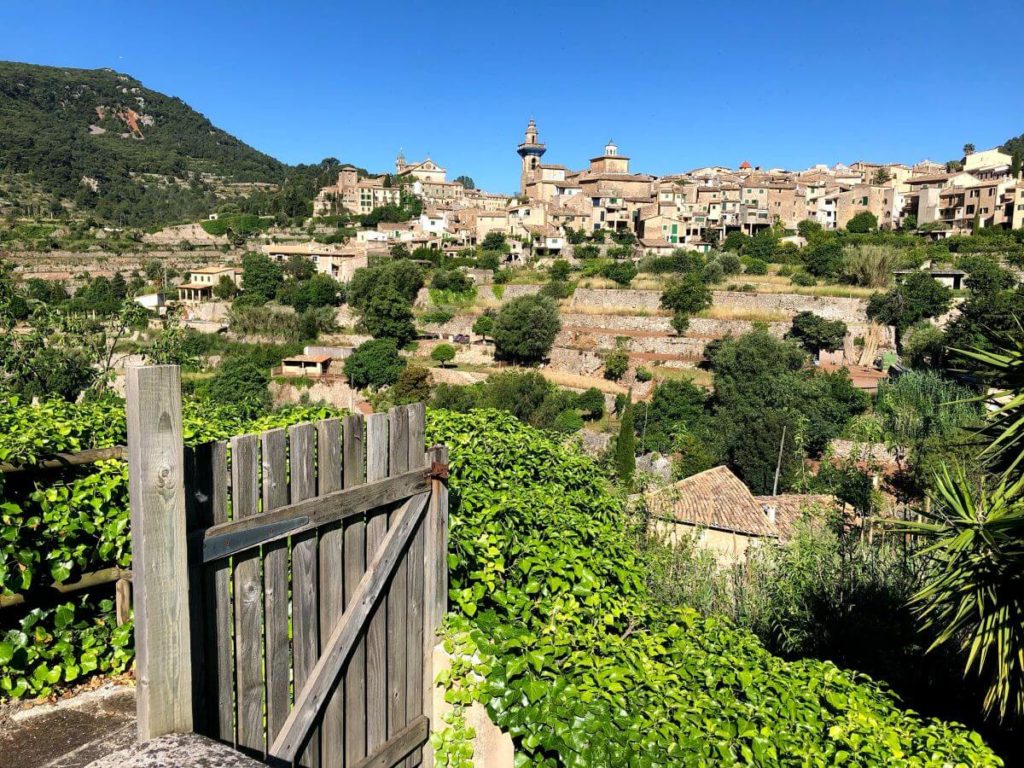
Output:
[[[428,463],[447,466],[447,449],[443,445],[431,449]],[[442,478],[434,478],[431,483],[430,508],[423,529],[423,714],[433,723],[434,645],[447,608],[447,484]],[[433,751],[425,746],[423,765],[430,768],[433,763]]]

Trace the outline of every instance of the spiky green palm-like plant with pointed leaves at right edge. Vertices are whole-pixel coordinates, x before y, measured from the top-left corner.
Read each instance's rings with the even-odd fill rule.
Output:
[[[933,575],[913,596],[932,647],[956,644],[987,686],[985,708],[1024,716],[1024,328],[991,350],[955,350],[981,364],[989,391],[981,451],[990,473],[936,474],[931,509],[894,527],[930,541]]]

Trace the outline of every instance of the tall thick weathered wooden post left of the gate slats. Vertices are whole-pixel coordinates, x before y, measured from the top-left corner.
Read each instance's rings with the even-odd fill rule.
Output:
[[[188,558],[177,366],[129,368],[128,494],[140,740],[193,730]]]

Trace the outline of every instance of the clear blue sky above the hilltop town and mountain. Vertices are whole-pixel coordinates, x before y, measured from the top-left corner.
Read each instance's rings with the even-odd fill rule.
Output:
[[[1024,132],[1018,2],[54,2],[0,5],[0,58],[111,67],[289,163],[399,147],[511,191],[613,137],[637,171],[914,162]],[[974,26],[979,13],[991,24]],[[1001,22],[999,19],[1002,19]],[[1000,27],[1001,25],[1005,25]],[[1006,34],[1000,30],[1005,30]],[[1009,45],[1009,47],[1008,47]]]

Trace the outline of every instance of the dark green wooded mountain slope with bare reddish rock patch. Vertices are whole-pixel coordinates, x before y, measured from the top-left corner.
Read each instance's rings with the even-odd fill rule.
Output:
[[[202,174],[280,183],[287,170],[127,75],[0,62],[0,173],[104,218],[188,217],[212,195]]]

